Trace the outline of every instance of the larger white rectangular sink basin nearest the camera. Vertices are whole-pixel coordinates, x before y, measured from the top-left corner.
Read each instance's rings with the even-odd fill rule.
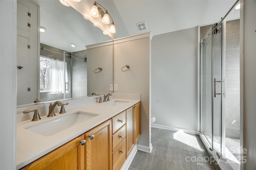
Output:
[[[54,119],[39,125],[23,128],[47,137],[60,131],[64,131],[73,125],[82,123],[83,121],[91,119],[97,115],[98,114],[77,111],[59,119]]]

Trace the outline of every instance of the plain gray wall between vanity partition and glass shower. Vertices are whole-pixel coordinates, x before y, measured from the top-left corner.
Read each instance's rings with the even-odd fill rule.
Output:
[[[197,131],[197,27],[152,39],[154,124]]]

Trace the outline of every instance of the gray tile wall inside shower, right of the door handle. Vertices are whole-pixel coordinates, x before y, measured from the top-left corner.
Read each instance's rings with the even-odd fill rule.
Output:
[[[226,23],[226,137],[240,139],[240,20]]]

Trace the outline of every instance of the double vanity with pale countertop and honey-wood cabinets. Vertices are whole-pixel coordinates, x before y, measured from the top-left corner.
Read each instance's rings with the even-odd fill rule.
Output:
[[[55,114],[17,123],[17,169],[119,170],[140,137],[140,100],[114,98]]]

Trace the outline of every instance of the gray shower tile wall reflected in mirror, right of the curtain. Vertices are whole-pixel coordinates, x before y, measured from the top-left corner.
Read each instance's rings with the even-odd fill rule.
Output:
[[[87,51],[72,53],[72,56],[85,58]],[[72,98],[87,96],[87,63],[72,57]]]

